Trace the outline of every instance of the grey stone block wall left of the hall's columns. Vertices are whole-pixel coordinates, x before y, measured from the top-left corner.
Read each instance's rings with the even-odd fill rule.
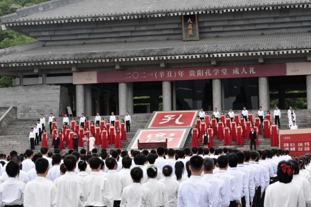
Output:
[[[68,89],[62,86],[0,88],[0,97],[5,97],[0,99],[1,106],[17,107],[17,118],[47,117],[51,112],[57,117],[68,105]]]

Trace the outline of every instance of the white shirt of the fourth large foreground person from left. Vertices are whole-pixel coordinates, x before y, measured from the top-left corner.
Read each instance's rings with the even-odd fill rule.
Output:
[[[86,188],[89,197],[85,206],[113,206],[112,191],[107,178],[103,178],[99,172],[91,172],[85,177]]]

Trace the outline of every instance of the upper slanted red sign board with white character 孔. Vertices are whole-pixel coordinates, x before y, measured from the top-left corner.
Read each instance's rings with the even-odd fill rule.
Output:
[[[156,112],[148,128],[192,127],[197,111]]]

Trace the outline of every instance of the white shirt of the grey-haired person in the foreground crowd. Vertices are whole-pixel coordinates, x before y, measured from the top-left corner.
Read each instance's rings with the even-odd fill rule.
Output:
[[[225,182],[219,178],[213,176],[213,174],[204,174],[203,180],[210,183],[213,186],[212,196],[214,197],[213,206],[229,206],[230,200],[226,195]]]

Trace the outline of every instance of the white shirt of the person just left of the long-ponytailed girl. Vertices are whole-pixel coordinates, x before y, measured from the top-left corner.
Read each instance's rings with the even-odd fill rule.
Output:
[[[164,177],[159,182],[165,184],[165,188],[167,191],[167,196],[169,200],[169,207],[177,207],[177,195],[179,182],[174,180],[172,177]]]

